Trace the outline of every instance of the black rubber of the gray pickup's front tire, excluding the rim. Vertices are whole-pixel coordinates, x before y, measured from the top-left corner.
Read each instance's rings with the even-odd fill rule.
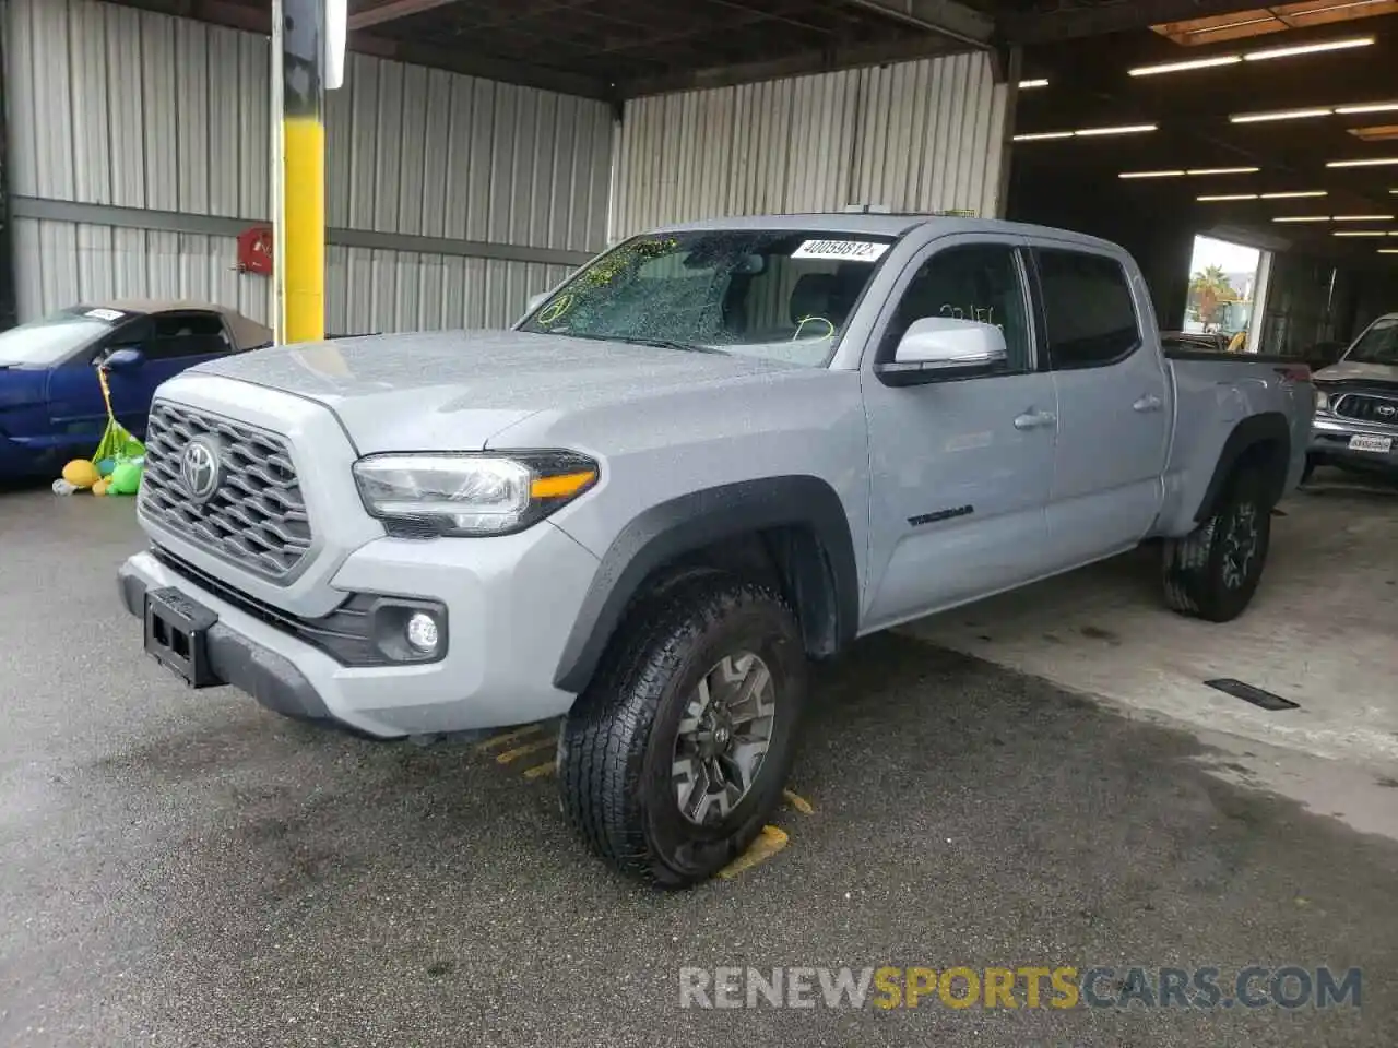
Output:
[[[677,801],[677,732],[691,692],[738,650],[756,654],[772,675],[772,738],[741,802],[717,824],[698,826]],[[639,602],[559,732],[563,813],[624,873],[661,887],[712,878],[780,802],[805,689],[800,626],[772,588],[709,573]]]

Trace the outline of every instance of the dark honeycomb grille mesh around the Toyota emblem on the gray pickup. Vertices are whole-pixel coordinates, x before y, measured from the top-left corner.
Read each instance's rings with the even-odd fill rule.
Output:
[[[206,437],[222,475],[204,502],[183,478],[185,449]],[[287,443],[245,422],[157,401],[145,437],[141,509],[204,549],[271,581],[289,581],[310,551],[310,521]]]

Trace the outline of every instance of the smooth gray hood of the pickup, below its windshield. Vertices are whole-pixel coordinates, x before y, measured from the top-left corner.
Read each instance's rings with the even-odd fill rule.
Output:
[[[257,349],[200,365],[324,404],[361,454],[480,450],[548,409],[596,409],[797,367],[523,331],[432,331]]]

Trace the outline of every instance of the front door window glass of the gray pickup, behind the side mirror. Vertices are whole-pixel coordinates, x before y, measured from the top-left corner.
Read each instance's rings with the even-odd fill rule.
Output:
[[[889,359],[914,320],[951,317],[994,324],[1005,335],[1008,365],[995,374],[1032,370],[1025,286],[1009,245],[963,245],[937,252],[909,282],[884,335]]]

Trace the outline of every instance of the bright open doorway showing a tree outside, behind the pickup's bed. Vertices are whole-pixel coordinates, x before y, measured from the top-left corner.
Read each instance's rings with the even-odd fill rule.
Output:
[[[1253,320],[1264,314],[1269,272],[1271,252],[1199,233],[1180,330],[1216,335],[1232,352],[1255,352]]]

